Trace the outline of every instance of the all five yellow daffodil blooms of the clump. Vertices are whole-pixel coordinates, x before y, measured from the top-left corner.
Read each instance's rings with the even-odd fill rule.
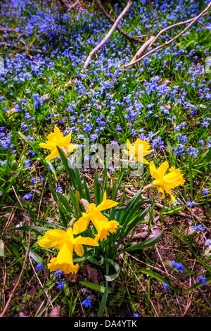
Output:
[[[51,151],[51,154],[46,157],[46,161],[57,156],[60,157],[58,148],[63,150],[66,157],[68,152],[72,152],[77,148],[77,145],[71,144],[71,133],[67,137],[63,137],[59,128],[55,127],[54,132],[48,135],[47,142],[39,144],[42,148]],[[129,163],[134,159],[135,163],[141,162],[149,165],[150,173],[155,180],[148,186],[157,187],[158,191],[162,192],[162,199],[165,197],[165,192],[170,194],[174,203],[175,198],[171,189],[184,184],[181,171],[171,167],[169,173],[165,175],[169,167],[167,161],[163,162],[158,169],[155,168],[153,161],[148,162],[145,156],[151,154],[153,149],[151,149],[147,141],[137,139],[134,145],[132,145],[127,139],[127,148],[127,150],[124,150],[124,153],[129,156]],[[99,246],[99,242],[108,239],[108,236],[114,234],[119,227],[117,220],[108,220],[102,213],[118,204],[116,201],[107,199],[106,191],[103,194],[103,201],[98,206],[94,203],[89,203],[89,201],[83,198],[80,199],[80,202],[84,206],[85,213],[82,212],[82,216],[76,221],[72,219],[67,230],[49,230],[37,241],[39,246],[46,249],[51,247],[58,249],[58,255],[51,258],[48,264],[51,271],[61,270],[66,274],[77,273],[79,264],[73,263],[74,252],[77,256],[82,257],[84,255],[83,245]],[[89,231],[91,230],[91,237],[86,237],[87,233],[89,233],[86,232],[88,227]]]

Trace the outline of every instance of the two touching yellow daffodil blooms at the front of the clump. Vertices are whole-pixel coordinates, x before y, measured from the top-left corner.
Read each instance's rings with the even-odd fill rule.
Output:
[[[115,220],[108,220],[101,211],[117,206],[117,202],[108,200],[106,192],[103,196],[103,201],[101,204],[96,206],[96,204],[89,204],[85,199],[81,199],[84,204],[87,213],[83,213],[83,216],[79,218],[74,223],[72,223],[68,230],[52,229],[46,232],[46,234],[39,238],[37,244],[39,246],[49,249],[51,247],[56,247],[58,249],[58,256],[51,258],[48,268],[51,271],[61,270],[64,273],[77,273],[79,268],[78,263],[74,265],[73,263],[73,251],[77,256],[82,257],[84,255],[84,249],[82,245],[87,246],[98,246],[98,241],[107,239],[110,233],[116,231],[119,223]],[[87,230],[89,221],[93,223],[96,228],[97,234],[95,238],[77,236],[79,233]]]

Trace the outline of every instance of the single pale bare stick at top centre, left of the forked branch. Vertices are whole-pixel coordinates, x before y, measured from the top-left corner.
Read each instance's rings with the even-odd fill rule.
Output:
[[[89,56],[86,60],[86,62],[84,63],[84,69],[87,68],[87,66],[89,65],[89,62],[91,61],[91,59],[94,57],[94,55],[98,52],[99,49],[101,49],[101,47],[103,47],[103,45],[106,44],[106,42],[108,41],[108,39],[110,38],[111,35],[113,35],[113,32],[116,30],[117,25],[120,23],[120,20],[122,20],[122,18],[124,17],[124,15],[127,13],[127,11],[129,11],[129,8],[132,6],[132,1],[129,0],[127,3],[127,6],[124,8],[124,11],[122,11],[122,13],[120,13],[120,15],[117,17],[117,19],[115,20],[115,23],[113,24],[113,27],[111,27],[111,29],[108,31],[107,35],[101,40],[101,42],[89,53]]]

